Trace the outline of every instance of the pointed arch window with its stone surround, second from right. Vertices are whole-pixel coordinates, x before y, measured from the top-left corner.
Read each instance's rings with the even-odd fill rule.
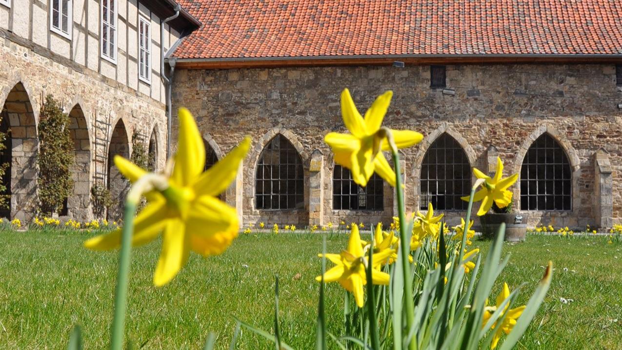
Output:
[[[468,195],[475,163],[473,148],[447,123],[427,134],[415,153],[412,172],[417,208],[432,203],[439,210],[466,210],[460,197]]]

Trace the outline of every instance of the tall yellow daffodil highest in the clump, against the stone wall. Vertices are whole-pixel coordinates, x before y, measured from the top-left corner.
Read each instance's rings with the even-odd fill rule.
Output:
[[[324,140],[335,153],[335,162],[349,168],[354,182],[362,187],[367,185],[374,172],[395,187],[395,173],[381,150],[390,150],[384,142],[386,134],[381,131],[381,124],[391,103],[392,91],[387,91],[376,98],[362,117],[356,109],[348,89],[341,93],[341,116],[351,134],[329,132]],[[392,130],[391,134],[397,148],[406,148],[423,139],[422,134],[407,130]]]

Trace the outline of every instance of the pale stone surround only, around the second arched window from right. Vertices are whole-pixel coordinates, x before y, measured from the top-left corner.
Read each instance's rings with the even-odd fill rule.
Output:
[[[475,150],[471,147],[471,145],[466,141],[464,137],[462,137],[458,132],[454,131],[448,123],[443,122],[440,124],[437,129],[427,134],[424,139],[419,143],[419,147],[417,147],[417,151],[415,152],[414,159],[412,162],[412,172],[411,176],[414,181],[412,181],[412,193],[414,195],[414,203],[413,205],[416,208],[419,208],[420,202],[420,177],[421,177],[421,165],[423,163],[425,154],[430,149],[430,146],[434,144],[434,142],[439,139],[443,134],[447,134],[452,137],[458,145],[462,147],[462,150],[465,152],[466,159],[468,160],[470,168],[474,167],[477,162],[477,157],[475,154]],[[472,176],[471,176],[472,177]],[[472,178],[471,178],[472,183]]]

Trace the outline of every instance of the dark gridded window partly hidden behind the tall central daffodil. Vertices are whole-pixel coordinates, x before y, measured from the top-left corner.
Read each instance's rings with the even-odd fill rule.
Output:
[[[335,164],[333,169],[334,210],[384,210],[383,179],[376,173],[369,178],[366,187],[352,180],[348,168]]]

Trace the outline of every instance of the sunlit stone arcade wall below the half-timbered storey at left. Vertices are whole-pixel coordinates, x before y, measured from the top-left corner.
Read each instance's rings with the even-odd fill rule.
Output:
[[[88,68],[57,62],[53,55],[45,56],[45,50],[37,52],[0,36],[0,108],[7,108],[13,129],[11,216],[29,219],[35,212],[35,155],[39,147],[36,126],[42,98],[52,94],[67,113],[72,112],[70,129],[77,146],[77,181],[68,200],[69,212],[75,218],[89,219],[93,217],[90,187],[94,178],[106,176],[114,126],[123,120],[128,139],[134,132],[151,136],[157,130],[157,149],[165,150],[164,104],[129,88],[119,88],[116,82]],[[74,111],[76,106],[80,113]],[[159,168],[164,167],[164,153],[158,154]]]

